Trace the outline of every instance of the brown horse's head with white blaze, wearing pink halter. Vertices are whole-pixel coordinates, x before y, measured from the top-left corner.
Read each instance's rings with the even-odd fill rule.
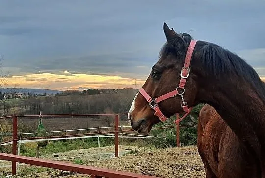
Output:
[[[128,112],[132,128],[143,134],[154,124],[177,112],[189,112],[191,106],[198,104],[197,76],[189,68],[196,41],[189,34],[170,30],[166,23],[163,30],[167,42]]]

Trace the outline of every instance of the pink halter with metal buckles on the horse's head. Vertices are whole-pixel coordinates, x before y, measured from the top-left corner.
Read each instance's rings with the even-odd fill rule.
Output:
[[[181,99],[182,99],[181,107],[182,107],[183,111],[186,112],[185,115],[183,117],[181,117],[180,119],[177,119],[175,121],[175,123],[179,123],[192,110],[192,107],[188,108],[188,104],[187,104],[187,102],[185,102],[183,94],[185,93],[184,86],[185,86],[185,83],[186,83],[187,78],[189,76],[189,72],[190,72],[189,65],[190,65],[190,61],[191,61],[191,57],[192,57],[195,45],[196,45],[196,41],[195,40],[191,40],[191,42],[190,42],[190,44],[188,46],[188,51],[187,51],[187,54],[186,54],[184,66],[181,69],[180,83],[179,83],[179,86],[175,90],[173,90],[173,91],[171,91],[169,93],[166,93],[166,94],[164,94],[162,96],[159,96],[157,98],[152,98],[151,96],[149,96],[149,94],[147,94],[147,92],[143,88],[140,89],[140,93],[147,100],[147,102],[149,103],[149,106],[152,109],[155,110],[155,115],[159,118],[159,120],[161,120],[161,122],[166,121],[168,118],[165,115],[163,115],[162,111],[159,109],[158,103],[163,101],[163,100],[166,100],[168,98],[171,98],[171,97],[173,98],[173,97],[175,97],[177,95],[181,96]]]

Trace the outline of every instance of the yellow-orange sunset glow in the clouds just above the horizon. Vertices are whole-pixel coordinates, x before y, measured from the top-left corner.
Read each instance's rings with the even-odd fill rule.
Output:
[[[9,76],[5,87],[39,88],[39,89],[123,89],[135,87],[135,79],[122,78],[121,76],[102,76],[88,74],[71,74],[64,71],[65,75],[41,73]],[[137,80],[137,86],[142,86],[143,80]]]

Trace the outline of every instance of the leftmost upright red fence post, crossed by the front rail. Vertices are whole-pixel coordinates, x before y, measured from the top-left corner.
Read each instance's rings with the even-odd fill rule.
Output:
[[[13,118],[13,141],[12,141],[12,154],[17,154],[17,134],[18,134],[18,117],[15,116]],[[17,162],[12,161],[12,176],[14,176],[17,172]]]

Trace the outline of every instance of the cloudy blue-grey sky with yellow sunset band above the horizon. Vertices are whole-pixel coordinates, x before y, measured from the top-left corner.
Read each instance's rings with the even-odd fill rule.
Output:
[[[0,0],[4,87],[139,88],[163,23],[237,53],[265,77],[265,0]],[[265,79],[265,78],[264,78]]]

